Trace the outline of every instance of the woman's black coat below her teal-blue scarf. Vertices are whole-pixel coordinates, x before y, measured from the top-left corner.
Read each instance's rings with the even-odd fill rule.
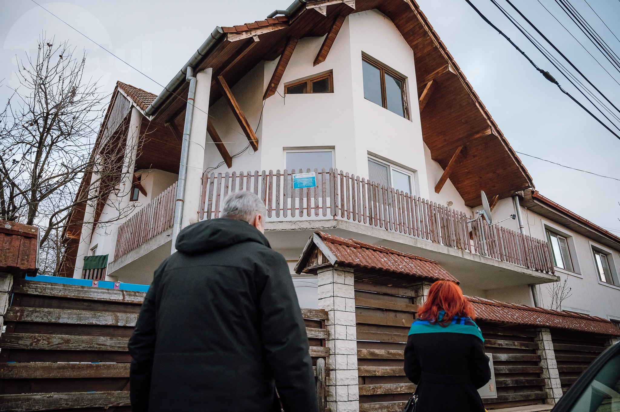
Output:
[[[416,412],[484,412],[477,388],[489,382],[491,371],[484,345],[474,335],[409,335],[405,374],[418,385]]]

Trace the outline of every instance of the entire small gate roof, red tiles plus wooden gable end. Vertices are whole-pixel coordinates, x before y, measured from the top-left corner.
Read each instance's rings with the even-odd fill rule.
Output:
[[[401,280],[390,280],[389,283],[394,286],[403,286],[412,281],[420,280],[449,280],[459,283],[435,260],[395,251],[389,247],[356,241],[355,239],[339,238],[321,231],[314,232],[304,247],[304,251],[301,252],[301,257],[295,266],[296,273],[303,273],[306,269],[312,271],[309,264],[312,264],[312,255],[317,249],[327,259],[325,263],[355,268],[356,278],[359,280],[370,281],[375,278],[388,278],[386,273],[382,272],[389,272],[407,275]],[[322,262],[317,263],[321,264]],[[316,271],[316,269],[314,270]]]

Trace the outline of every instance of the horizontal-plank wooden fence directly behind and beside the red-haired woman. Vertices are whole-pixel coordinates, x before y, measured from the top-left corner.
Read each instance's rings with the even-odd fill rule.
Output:
[[[360,412],[398,412],[415,385],[403,368],[407,333],[417,312],[415,292],[408,288],[355,283]],[[545,403],[536,354],[536,332],[525,327],[495,327],[478,321],[485,352],[494,363],[497,398],[484,399],[485,408]]]

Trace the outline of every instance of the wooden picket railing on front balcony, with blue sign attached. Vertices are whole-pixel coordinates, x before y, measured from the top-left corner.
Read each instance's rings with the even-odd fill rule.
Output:
[[[311,170],[307,169],[305,172]],[[252,191],[267,206],[268,221],[329,218],[356,221],[433,243],[554,273],[546,241],[340,170],[317,170],[317,187],[294,189],[294,173],[304,170],[248,171],[203,175],[200,219],[217,218],[232,192]]]

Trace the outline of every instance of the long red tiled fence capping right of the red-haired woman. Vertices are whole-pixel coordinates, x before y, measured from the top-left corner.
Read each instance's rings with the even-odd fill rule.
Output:
[[[620,336],[620,329],[614,327],[609,320],[596,316],[553,311],[542,307],[505,303],[475,296],[468,296],[467,299],[474,305],[476,317],[480,320]]]

